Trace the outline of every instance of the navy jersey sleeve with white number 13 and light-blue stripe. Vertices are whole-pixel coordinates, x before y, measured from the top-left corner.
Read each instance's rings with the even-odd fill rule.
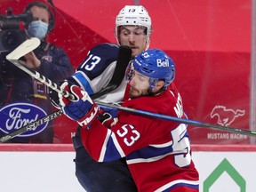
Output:
[[[90,95],[99,92],[114,74],[118,49],[116,44],[99,44],[92,47],[69,81],[75,81]]]

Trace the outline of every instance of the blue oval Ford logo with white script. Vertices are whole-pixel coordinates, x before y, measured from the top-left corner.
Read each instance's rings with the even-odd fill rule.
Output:
[[[0,108],[0,130],[6,134],[14,132],[27,124],[47,116],[44,109],[25,102],[17,102]],[[43,132],[48,122],[38,125],[28,132],[23,132],[17,137],[28,137]]]

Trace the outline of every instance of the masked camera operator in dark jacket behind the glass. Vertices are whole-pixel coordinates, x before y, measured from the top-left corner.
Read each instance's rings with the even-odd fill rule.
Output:
[[[26,26],[29,37],[37,37],[41,44],[33,52],[28,52],[22,60],[28,68],[58,83],[74,73],[74,69],[68,58],[68,54],[54,44],[47,42],[47,36],[54,27],[54,18],[51,9],[43,2],[32,2],[27,5],[25,12],[31,12],[33,21]],[[39,117],[36,113],[46,116],[56,109],[49,99],[49,89],[44,84],[36,81],[31,76],[15,67],[9,61],[1,58],[2,64],[0,78],[0,110],[7,108],[8,114],[14,112],[17,118],[9,116],[6,122],[1,122],[0,136],[13,132],[24,126],[22,122],[30,122]],[[3,72],[4,71],[4,72]],[[18,110],[14,110],[18,108]],[[31,111],[31,116],[28,113]],[[34,114],[34,115],[33,115]],[[3,120],[3,119],[2,119]],[[1,120],[1,121],[2,121]],[[5,121],[5,118],[4,118]],[[8,124],[8,122],[12,124]],[[19,122],[20,124],[19,124]],[[25,132],[20,136],[9,140],[19,143],[52,143],[54,138],[53,121],[34,131]]]

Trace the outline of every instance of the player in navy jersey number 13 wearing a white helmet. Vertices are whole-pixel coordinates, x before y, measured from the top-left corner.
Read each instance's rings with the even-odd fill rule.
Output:
[[[148,49],[151,29],[148,11],[141,5],[126,5],[116,16],[117,43],[129,46],[132,49],[132,58]],[[97,92],[108,87],[115,70],[119,67],[116,66],[118,49],[116,44],[99,44],[93,47],[76,69],[76,73],[68,78],[68,84],[79,85],[90,95],[97,95]],[[126,82],[123,81],[124,76],[114,76],[116,77],[119,78],[120,85],[98,100],[109,103],[123,100]],[[109,116],[115,116],[115,111],[108,112],[101,118],[106,120]],[[125,161],[95,162],[83,147],[79,129],[73,143],[76,149],[76,177],[83,188],[87,192],[137,191]]]

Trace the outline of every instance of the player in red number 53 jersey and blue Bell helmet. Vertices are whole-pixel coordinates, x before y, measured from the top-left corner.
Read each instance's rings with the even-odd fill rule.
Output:
[[[129,84],[122,106],[185,118],[174,76],[174,63],[163,51],[140,53],[127,70]],[[109,125],[109,119],[100,122],[99,107],[87,92],[76,85],[69,87],[68,83],[61,86],[72,92],[76,100],[59,95],[60,107],[82,126],[84,147],[96,161],[125,157],[141,192],[199,190],[186,124],[120,111],[118,122]]]

